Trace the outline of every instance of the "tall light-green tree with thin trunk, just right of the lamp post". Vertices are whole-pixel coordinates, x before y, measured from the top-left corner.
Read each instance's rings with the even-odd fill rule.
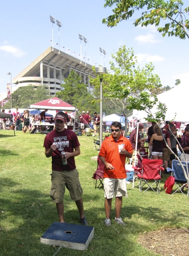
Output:
[[[140,69],[137,65],[137,57],[131,49],[121,46],[115,54],[111,55],[114,62],[110,62],[110,69],[113,75],[103,76],[103,98],[109,106],[117,109],[117,113],[125,116],[125,131],[127,129],[127,117],[131,114],[127,106],[129,97],[139,97],[141,91],[147,91],[162,87],[159,76],[153,74],[154,66],[152,63],[146,64]],[[95,90],[99,91],[99,78],[91,79]]]

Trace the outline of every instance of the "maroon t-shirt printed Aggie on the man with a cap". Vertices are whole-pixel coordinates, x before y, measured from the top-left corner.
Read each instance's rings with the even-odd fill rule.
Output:
[[[48,133],[44,140],[44,147],[50,148],[50,146],[56,143],[56,150],[52,154],[52,170],[53,171],[63,171],[63,170],[73,170],[76,168],[74,157],[69,157],[67,159],[68,164],[62,164],[61,152],[73,152],[74,148],[79,147],[78,137],[75,132],[68,129],[64,129],[63,132],[57,132],[53,130]]]

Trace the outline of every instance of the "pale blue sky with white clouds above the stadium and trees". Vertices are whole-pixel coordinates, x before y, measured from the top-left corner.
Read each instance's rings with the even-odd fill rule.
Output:
[[[0,8],[0,94],[24,68],[49,46],[53,39],[54,48],[80,59],[81,34],[87,38],[87,63],[110,68],[111,53],[120,46],[132,48],[140,68],[152,62],[163,86],[175,86],[175,80],[189,83],[189,39],[162,37],[155,26],[135,27],[134,18],[122,21],[110,28],[102,19],[111,15],[111,8],[104,8],[105,0],[8,0],[1,1]],[[62,23],[60,45],[58,26],[53,26],[49,15]],[[135,18],[139,17],[136,15]],[[64,47],[64,48],[63,48]],[[99,47],[105,50],[100,52]],[[68,51],[69,49],[69,51]],[[85,45],[82,41],[82,60]],[[12,87],[15,85],[12,84]]]

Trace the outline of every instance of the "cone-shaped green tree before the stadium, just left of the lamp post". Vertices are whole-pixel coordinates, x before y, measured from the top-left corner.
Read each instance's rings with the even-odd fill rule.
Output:
[[[98,104],[94,102],[94,97],[87,90],[85,84],[81,82],[81,78],[74,71],[71,71],[68,78],[64,79],[64,84],[61,84],[62,91],[56,93],[56,96],[63,101],[75,106],[80,111],[90,111],[98,107]],[[91,105],[91,102],[93,104]]]

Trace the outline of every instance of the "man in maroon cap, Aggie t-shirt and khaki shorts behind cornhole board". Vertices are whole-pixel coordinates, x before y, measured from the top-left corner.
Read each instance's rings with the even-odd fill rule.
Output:
[[[87,225],[83,211],[83,189],[74,159],[80,154],[80,144],[75,132],[64,128],[66,122],[66,114],[58,112],[55,116],[55,129],[48,133],[44,140],[45,155],[46,157],[52,157],[50,197],[56,203],[60,222],[64,222],[63,198],[66,187],[69,190],[71,199],[75,201],[78,207],[80,222],[82,225]],[[64,156],[61,154],[63,151],[65,152]]]

